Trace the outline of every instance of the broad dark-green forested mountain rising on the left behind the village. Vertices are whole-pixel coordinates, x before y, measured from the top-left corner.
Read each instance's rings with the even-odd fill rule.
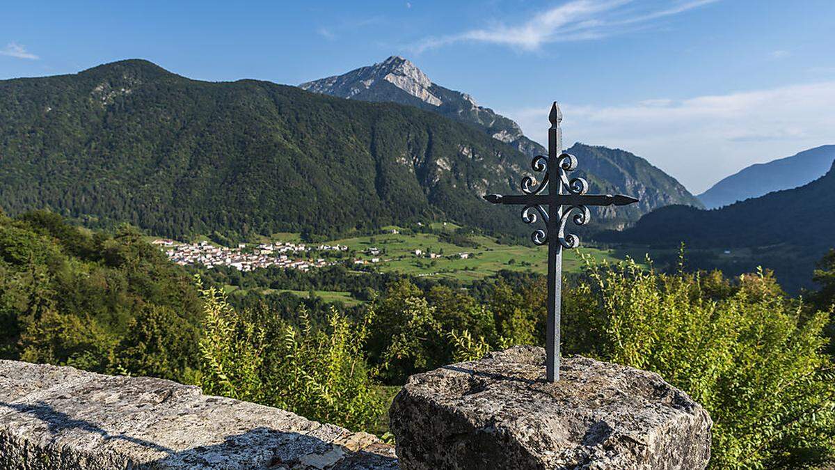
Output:
[[[444,217],[527,233],[488,192],[529,158],[412,106],[256,80],[186,79],[144,60],[0,81],[0,207],[158,235],[322,235]]]

